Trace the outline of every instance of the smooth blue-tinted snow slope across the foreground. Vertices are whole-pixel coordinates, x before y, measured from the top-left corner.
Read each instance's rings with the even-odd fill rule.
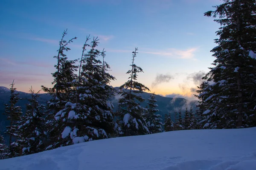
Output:
[[[0,170],[256,170],[256,127],[85,142],[0,160]]]

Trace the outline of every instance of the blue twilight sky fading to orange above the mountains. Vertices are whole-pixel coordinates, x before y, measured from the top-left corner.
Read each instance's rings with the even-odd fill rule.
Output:
[[[138,81],[151,92],[195,99],[195,89],[214,58],[215,31],[220,27],[204,12],[220,0],[1,0],[0,86],[15,79],[18,91],[52,87],[51,73],[58,42],[67,28],[67,57],[81,57],[86,37],[105,48],[113,87],[124,84],[135,64],[144,73]]]

